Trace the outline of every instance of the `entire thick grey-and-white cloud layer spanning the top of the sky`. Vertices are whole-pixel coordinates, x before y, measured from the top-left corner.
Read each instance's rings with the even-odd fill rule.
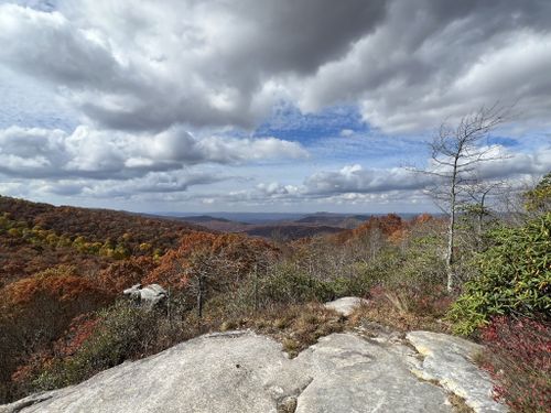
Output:
[[[348,102],[387,131],[501,99],[551,109],[551,2],[61,1],[2,6],[0,62],[114,129],[252,126],[276,101]],[[15,41],[17,40],[17,41]]]

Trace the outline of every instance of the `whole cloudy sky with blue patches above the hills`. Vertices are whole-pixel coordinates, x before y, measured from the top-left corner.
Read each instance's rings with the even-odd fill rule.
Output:
[[[0,194],[142,211],[423,211],[424,142],[496,101],[551,170],[549,0],[0,0]]]

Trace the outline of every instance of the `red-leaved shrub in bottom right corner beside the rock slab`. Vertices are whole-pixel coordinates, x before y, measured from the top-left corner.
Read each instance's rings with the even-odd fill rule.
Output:
[[[496,380],[495,398],[517,412],[551,412],[551,327],[532,319],[495,317],[482,330],[483,367]]]

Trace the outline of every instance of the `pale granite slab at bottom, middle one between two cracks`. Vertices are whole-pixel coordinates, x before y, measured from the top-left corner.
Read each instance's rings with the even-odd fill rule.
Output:
[[[406,358],[414,351],[400,347],[389,351],[350,334],[320,339],[296,359],[314,378],[301,393],[296,413],[452,412],[445,391],[411,374]]]

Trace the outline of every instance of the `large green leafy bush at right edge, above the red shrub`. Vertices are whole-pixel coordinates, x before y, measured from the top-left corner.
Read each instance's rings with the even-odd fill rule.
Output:
[[[478,256],[479,274],[465,284],[449,313],[454,330],[472,334],[491,316],[533,316],[551,309],[551,213],[519,228],[489,233]]]

